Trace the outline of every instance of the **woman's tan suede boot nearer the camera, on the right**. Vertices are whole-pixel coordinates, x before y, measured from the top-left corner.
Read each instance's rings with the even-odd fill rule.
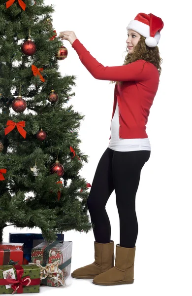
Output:
[[[97,275],[93,284],[112,286],[122,284],[132,284],[134,282],[134,248],[120,247],[116,245],[115,266]]]

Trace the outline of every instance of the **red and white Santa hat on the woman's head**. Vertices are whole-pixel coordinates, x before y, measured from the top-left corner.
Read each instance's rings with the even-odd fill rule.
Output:
[[[146,37],[145,43],[149,47],[155,47],[160,41],[160,31],[164,24],[160,17],[149,13],[138,13],[134,20],[130,21],[127,31],[132,29]]]

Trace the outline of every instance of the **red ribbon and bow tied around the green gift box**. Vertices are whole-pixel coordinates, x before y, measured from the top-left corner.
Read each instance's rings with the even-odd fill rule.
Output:
[[[12,294],[15,292],[23,293],[23,286],[36,286],[40,285],[40,278],[39,279],[31,279],[29,276],[26,276],[22,279],[24,269],[21,265],[13,265],[16,269],[16,277],[17,279],[0,279],[0,286],[4,285],[11,285],[11,288],[14,290]]]

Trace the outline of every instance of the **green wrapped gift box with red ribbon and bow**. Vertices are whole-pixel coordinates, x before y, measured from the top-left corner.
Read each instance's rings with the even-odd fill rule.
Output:
[[[5,285],[11,287],[6,289]],[[0,265],[0,294],[39,293],[39,286],[37,265]]]

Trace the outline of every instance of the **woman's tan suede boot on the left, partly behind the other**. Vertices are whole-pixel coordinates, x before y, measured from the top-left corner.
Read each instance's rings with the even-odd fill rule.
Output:
[[[95,261],[75,269],[71,276],[76,279],[94,279],[96,275],[114,266],[114,241],[107,244],[94,242]]]

